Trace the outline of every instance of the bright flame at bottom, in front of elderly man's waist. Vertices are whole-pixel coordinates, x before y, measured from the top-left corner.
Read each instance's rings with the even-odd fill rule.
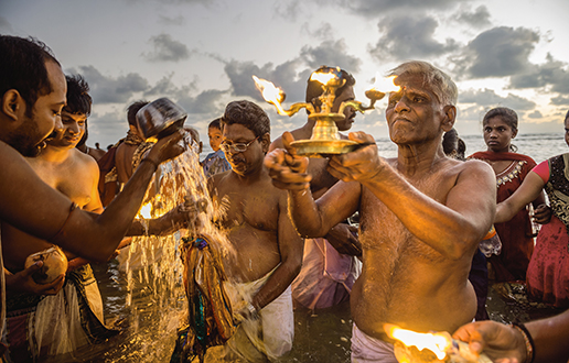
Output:
[[[449,338],[440,333],[418,333],[412,330],[401,329],[395,324],[384,324],[385,332],[407,346],[415,345],[418,350],[428,349],[442,360],[447,356],[447,350],[452,342]]]

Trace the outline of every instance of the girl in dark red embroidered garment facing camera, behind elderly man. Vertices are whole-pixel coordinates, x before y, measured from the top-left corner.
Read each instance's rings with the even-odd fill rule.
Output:
[[[484,116],[482,124],[487,151],[474,153],[470,158],[480,158],[492,165],[496,173],[496,201],[501,202],[516,191],[536,162],[517,154],[517,147],[512,145],[512,139],[517,134],[517,114],[514,110],[494,108]],[[533,205],[537,208],[544,202],[541,193]],[[494,226],[502,241],[502,253],[489,258],[496,282],[525,280],[534,252],[534,233],[527,210],[523,208],[508,222]]]

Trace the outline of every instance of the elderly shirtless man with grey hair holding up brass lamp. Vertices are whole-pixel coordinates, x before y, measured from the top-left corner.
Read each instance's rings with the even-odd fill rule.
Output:
[[[442,151],[442,134],[455,119],[454,82],[425,62],[404,63],[391,75],[401,87],[386,110],[396,158],[379,157],[372,135],[351,133],[351,140],[372,145],[332,157],[329,170],[342,182],[314,201],[305,158],[290,148],[266,157],[275,185],[289,189],[302,235],[324,235],[359,210],[363,272],[351,296],[354,362],[397,362],[386,322],[452,332],[474,318],[468,275],[495,213],[492,169]],[[292,141],[290,134],[283,139],[286,146]]]

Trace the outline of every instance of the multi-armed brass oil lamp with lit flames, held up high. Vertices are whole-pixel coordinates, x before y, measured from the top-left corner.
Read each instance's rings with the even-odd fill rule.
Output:
[[[280,88],[256,76],[253,76],[253,79],[255,80],[255,86],[261,92],[262,98],[265,98],[267,102],[275,105],[279,114],[290,117],[303,108],[310,112],[309,120],[315,120],[312,136],[310,140],[298,140],[291,143],[291,146],[296,148],[298,155],[310,157],[326,157],[329,155],[348,153],[357,148],[359,144],[355,141],[342,140],[340,138],[336,122],[345,119],[344,109],[346,107],[353,107],[356,111],[364,113],[366,110],[374,109],[375,102],[385,97],[385,92],[374,87],[365,92],[365,96],[371,100],[369,106],[364,107],[362,102],[356,100],[344,101],[337,112],[332,112],[335,91],[344,86],[345,79],[342,79],[340,68],[328,68],[325,72],[314,72],[310,76],[310,79],[319,81],[324,90],[319,97],[322,105],[319,112],[316,112],[312,103],[308,102],[293,103],[290,109],[284,110],[281,102],[284,100],[286,95]],[[379,78],[376,77],[376,82],[378,79]],[[396,86],[391,85],[391,88],[393,87]]]

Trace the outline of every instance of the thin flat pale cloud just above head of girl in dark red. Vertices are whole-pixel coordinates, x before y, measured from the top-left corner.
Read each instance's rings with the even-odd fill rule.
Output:
[[[483,90],[470,89],[462,91],[459,95],[459,101],[460,103],[476,103],[487,109],[498,106],[509,107],[516,111],[528,111],[536,107],[536,103],[532,100],[513,94],[508,94],[506,97],[502,97],[496,95],[494,90],[487,88]]]

